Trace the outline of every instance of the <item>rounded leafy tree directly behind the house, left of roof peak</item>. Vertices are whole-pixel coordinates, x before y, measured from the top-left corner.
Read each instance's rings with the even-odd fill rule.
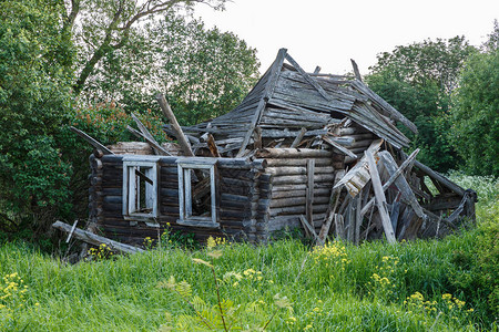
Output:
[[[167,92],[179,121],[194,124],[235,107],[257,74],[255,49],[233,33],[206,30],[203,22],[169,11],[104,58],[82,97],[114,100],[135,111],[157,108],[154,95]]]

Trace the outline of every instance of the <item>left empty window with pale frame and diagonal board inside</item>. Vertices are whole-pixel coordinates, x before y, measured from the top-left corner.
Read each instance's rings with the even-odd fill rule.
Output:
[[[150,224],[159,216],[157,157],[123,158],[123,216]]]

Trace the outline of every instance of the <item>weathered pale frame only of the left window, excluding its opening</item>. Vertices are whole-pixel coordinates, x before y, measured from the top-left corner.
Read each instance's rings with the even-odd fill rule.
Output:
[[[150,156],[126,156],[123,158],[122,214],[123,218],[125,220],[130,220],[131,225],[136,225],[136,221],[145,221],[147,226],[152,227],[159,227],[160,225],[156,220],[156,218],[160,216],[159,160],[160,157]],[[152,200],[152,203],[146,204],[146,206],[149,205],[149,207],[152,208],[152,211],[149,214],[138,212],[136,200],[130,199],[131,197],[135,197],[136,195],[138,175],[135,175],[135,172],[131,172],[131,169],[136,169],[136,167],[150,168],[150,170],[144,174],[152,181],[152,184],[145,183],[145,200]]]

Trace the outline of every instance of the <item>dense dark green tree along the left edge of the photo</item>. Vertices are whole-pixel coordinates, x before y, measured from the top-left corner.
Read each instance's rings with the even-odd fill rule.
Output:
[[[62,10],[52,0],[0,2],[0,230],[69,208],[71,165],[58,137],[74,49]]]

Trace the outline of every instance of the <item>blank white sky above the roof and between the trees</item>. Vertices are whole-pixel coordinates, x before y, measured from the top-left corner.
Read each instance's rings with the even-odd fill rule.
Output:
[[[305,71],[344,74],[354,59],[366,74],[396,45],[456,35],[481,44],[499,0],[234,0],[222,12],[197,6],[194,15],[256,48],[261,73],[286,48]]]

